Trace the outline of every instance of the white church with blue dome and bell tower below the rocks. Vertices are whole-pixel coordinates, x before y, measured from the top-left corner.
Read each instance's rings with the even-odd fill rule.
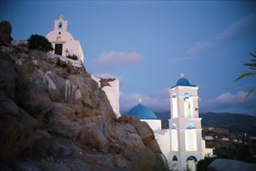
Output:
[[[202,119],[198,115],[198,87],[190,85],[182,77],[169,89],[169,93],[169,129],[162,130],[161,121],[141,103],[129,110],[128,114],[147,121],[154,130],[157,143],[171,170],[194,171],[200,159],[213,155],[213,149],[205,148],[205,141],[202,139]]]

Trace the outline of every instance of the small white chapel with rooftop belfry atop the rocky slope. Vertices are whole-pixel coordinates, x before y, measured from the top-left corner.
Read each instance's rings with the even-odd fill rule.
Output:
[[[63,57],[76,55],[82,62],[84,60],[81,44],[79,40],[74,40],[68,29],[68,21],[61,15],[54,21],[53,30],[46,38],[52,43],[53,53]]]

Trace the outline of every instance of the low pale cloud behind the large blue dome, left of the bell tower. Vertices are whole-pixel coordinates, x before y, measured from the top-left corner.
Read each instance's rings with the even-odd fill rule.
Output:
[[[160,90],[155,94],[124,94],[120,93],[120,109],[126,113],[133,106],[137,105],[137,100],[142,99],[142,103],[154,112],[165,112],[170,108],[169,93],[167,89]]]

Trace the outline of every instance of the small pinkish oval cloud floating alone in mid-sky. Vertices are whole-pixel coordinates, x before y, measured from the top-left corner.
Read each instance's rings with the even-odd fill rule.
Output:
[[[137,64],[143,61],[141,56],[136,51],[115,51],[111,50],[100,54],[99,58],[96,58],[93,63],[97,67],[123,67],[132,64]]]

